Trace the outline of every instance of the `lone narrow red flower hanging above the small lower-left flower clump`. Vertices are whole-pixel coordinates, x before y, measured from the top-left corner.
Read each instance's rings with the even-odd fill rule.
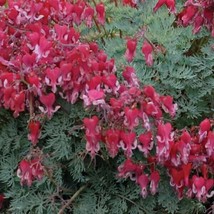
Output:
[[[30,140],[34,146],[38,143],[38,139],[41,136],[40,128],[41,124],[39,121],[30,121],[28,125],[28,140]]]

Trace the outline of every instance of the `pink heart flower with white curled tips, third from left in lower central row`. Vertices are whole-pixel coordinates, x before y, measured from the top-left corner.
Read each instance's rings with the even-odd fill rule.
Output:
[[[126,133],[121,131],[121,141],[119,146],[123,149],[127,157],[132,156],[132,150],[137,147],[136,134],[134,132]]]

